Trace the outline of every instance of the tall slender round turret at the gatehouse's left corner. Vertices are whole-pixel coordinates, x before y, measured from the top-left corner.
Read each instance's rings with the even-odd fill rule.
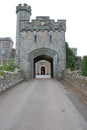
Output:
[[[22,28],[25,28],[26,24],[30,21],[30,16],[31,16],[31,7],[28,6],[27,4],[19,4],[16,7],[16,13],[17,13],[17,28],[16,28],[16,57],[18,57],[18,54],[20,53],[19,47],[20,47],[20,40],[19,40],[19,35],[20,35],[20,30]],[[17,64],[18,61],[16,61]]]

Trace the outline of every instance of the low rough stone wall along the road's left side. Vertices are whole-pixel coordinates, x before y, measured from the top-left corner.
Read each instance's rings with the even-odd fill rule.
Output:
[[[21,72],[17,73],[5,73],[4,77],[0,76],[0,92],[14,86],[23,81]]]

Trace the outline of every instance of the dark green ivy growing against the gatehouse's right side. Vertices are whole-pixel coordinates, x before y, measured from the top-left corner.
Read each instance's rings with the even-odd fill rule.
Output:
[[[68,46],[66,42],[66,68],[71,68],[75,70],[76,68],[76,56],[74,55],[72,49]]]

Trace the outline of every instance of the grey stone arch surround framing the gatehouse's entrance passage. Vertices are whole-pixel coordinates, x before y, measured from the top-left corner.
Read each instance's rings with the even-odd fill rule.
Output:
[[[35,63],[40,60],[49,61],[51,64],[51,77],[58,78],[59,77],[59,56],[58,53],[52,49],[48,48],[38,48],[33,50],[28,54],[28,62],[29,62],[29,78],[35,78]]]

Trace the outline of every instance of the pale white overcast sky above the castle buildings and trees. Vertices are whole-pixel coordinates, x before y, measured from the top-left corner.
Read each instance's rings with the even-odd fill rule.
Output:
[[[77,48],[78,56],[87,55],[87,2],[86,0],[0,0],[0,37],[11,37],[16,43],[16,6],[31,6],[31,20],[49,16],[57,21],[66,20],[65,40]]]

